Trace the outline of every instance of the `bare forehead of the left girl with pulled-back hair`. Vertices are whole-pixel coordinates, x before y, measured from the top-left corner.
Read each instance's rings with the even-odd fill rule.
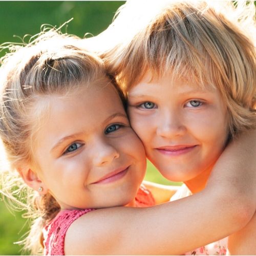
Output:
[[[46,137],[49,141],[80,132],[91,132],[104,126],[111,115],[125,115],[121,99],[114,86],[88,86],[66,94],[52,94],[40,97],[40,109],[35,129],[35,141],[40,144]]]

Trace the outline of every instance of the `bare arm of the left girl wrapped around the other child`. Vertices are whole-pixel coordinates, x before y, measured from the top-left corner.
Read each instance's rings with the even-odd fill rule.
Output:
[[[193,196],[83,215],[68,229],[66,254],[182,254],[238,231],[255,211],[255,142],[255,131],[231,142]]]

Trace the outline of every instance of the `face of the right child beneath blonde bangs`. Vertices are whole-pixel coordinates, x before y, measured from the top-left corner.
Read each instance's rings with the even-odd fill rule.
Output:
[[[227,112],[218,90],[148,73],[128,95],[131,125],[148,159],[169,180],[210,172],[225,147]]]

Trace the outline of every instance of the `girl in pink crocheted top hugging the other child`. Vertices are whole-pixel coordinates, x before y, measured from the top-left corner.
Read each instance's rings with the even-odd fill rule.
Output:
[[[28,185],[7,172],[2,193],[16,195],[34,219],[26,248],[37,254],[44,245],[51,255],[180,254],[245,226],[255,210],[255,174],[249,165],[246,177],[239,172],[255,161],[243,155],[246,137],[239,151],[227,148],[198,194],[135,207],[154,204],[140,187],[144,148],[115,81],[80,43],[50,31],[2,59],[0,135],[10,168]],[[5,187],[16,190],[8,195]]]

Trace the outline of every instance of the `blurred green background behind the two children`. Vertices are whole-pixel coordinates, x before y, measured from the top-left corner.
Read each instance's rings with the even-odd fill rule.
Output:
[[[42,24],[59,27],[74,18],[64,31],[83,37],[86,33],[97,35],[112,22],[114,13],[123,1],[0,1],[0,44],[21,42],[24,35],[40,32]],[[62,30],[63,32],[63,30]],[[4,51],[0,56],[4,55]],[[162,184],[175,184],[164,179],[148,163],[146,180]],[[177,184],[177,183],[176,183]],[[22,212],[11,212],[0,201],[0,254],[18,255],[19,241],[28,230]]]

